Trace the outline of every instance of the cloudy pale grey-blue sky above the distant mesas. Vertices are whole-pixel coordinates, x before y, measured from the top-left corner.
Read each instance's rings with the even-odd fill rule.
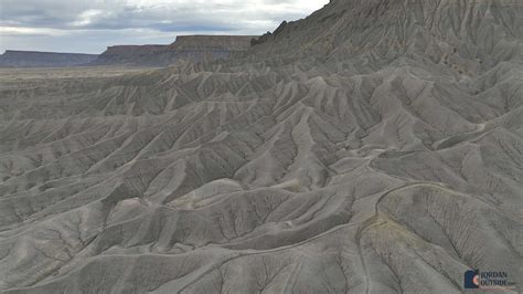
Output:
[[[263,34],[329,0],[0,0],[4,50],[102,53],[184,34]]]

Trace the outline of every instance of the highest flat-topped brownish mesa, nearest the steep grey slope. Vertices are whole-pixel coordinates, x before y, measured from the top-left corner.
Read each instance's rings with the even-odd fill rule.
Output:
[[[256,35],[180,35],[170,46],[173,50],[246,51]]]

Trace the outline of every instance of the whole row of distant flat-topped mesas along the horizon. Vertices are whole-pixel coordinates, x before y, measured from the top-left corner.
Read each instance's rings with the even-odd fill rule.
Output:
[[[180,60],[228,59],[247,51],[256,35],[181,35],[172,44],[114,45],[102,54],[52,53],[8,50],[0,55],[0,67],[68,66],[167,66]]]

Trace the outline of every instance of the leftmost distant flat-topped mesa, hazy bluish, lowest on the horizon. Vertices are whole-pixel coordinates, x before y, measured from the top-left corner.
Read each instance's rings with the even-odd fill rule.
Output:
[[[97,57],[97,54],[7,50],[0,55],[0,67],[78,66],[89,63]]]

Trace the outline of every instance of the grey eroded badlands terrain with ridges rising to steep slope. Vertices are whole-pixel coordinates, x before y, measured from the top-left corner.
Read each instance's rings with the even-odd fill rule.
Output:
[[[226,61],[2,70],[0,291],[521,292],[522,41],[519,1],[332,0]]]

